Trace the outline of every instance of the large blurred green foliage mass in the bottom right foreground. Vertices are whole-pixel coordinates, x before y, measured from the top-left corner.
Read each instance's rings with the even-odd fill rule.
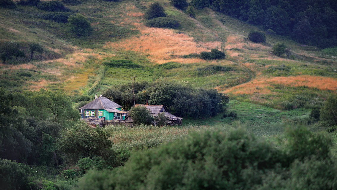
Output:
[[[139,152],[113,171],[91,171],[80,189],[335,189],[331,140],[289,128],[281,148],[239,128],[191,133]],[[97,185],[100,184],[98,187]]]

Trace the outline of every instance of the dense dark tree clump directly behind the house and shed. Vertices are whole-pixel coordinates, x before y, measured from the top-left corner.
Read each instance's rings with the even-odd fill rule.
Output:
[[[135,83],[134,93],[136,102],[145,104],[148,99],[149,104],[163,104],[181,117],[215,116],[222,110],[222,106],[228,103],[228,96],[214,89],[193,89],[167,81]],[[128,109],[133,105],[132,84],[106,89],[103,96]]]

